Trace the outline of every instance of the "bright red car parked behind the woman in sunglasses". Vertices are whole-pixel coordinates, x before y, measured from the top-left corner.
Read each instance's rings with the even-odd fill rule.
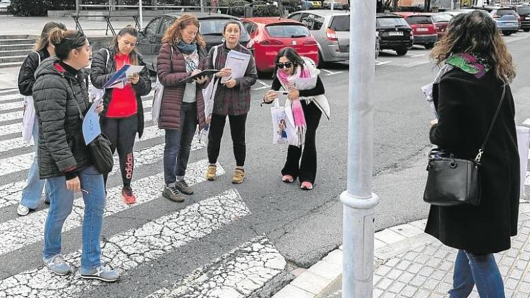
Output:
[[[317,41],[304,24],[279,17],[246,18],[242,23],[251,36],[246,48],[253,51],[259,72],[274,70],[276,54],[286,46],[318,65]]]

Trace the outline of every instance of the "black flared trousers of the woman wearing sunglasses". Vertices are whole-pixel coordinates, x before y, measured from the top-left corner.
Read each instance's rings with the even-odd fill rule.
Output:
[[[306,119],[306,141],[304,142],[304,148],[289,146],[282,175],[291,175],[294,179],[298,177],[300,182],[307,181],[315,183],[315,177],[317,177],[317,145],[315,135],[320,117],[322,117],[322,112],[315,103],[307,104],[306,101],[300,101],[300,103],[302,103],[302,110],[304,110],[304,118]]]

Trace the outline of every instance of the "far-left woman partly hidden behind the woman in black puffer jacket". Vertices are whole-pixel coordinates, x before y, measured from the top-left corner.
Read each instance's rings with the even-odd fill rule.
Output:
[[[39,121],[35,115],[35,108],[32,99],[32,88],[35,84],[35,70],[39,67],[41,61],[55,56],[55,48],[50,43],[48,33],[53,28],[61,28],[66,30],[63,23],[48,22],[44,25],[41,37],[35,45],[33,52],[28,54],[19,72],[19,91],[24,95],[24,116],[23,116],[23,133],[24,141],[31,141],[33,138],[33,150],[35,150],[35,157],[31,164],[30,172],[28,173],[28,185],[22,191],[22,199],[20,200],[17,213],[20,216],[26,216],[31,210],[35,210],[39,206],[42,190],[44,188],[44,180],[39,179],[39,165],[37,163],[37,145],[39,143]],[[50,190],[46,188],[46,195],[44,201],[50,203]]]

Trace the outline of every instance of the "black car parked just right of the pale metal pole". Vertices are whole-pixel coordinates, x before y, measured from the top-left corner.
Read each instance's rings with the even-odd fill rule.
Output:
[[[412,48],[412,28],[402,16],[378,13],[375,26],[379,32],[381,50],[395,50],[398,55],[402,56],[409,51],[409,48]]]

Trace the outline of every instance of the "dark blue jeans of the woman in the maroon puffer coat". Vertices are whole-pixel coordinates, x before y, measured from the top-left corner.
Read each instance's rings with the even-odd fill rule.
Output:
[[[177,181],[186,175],[190,158],[191,141],[197,128],[197,103],[182,103],[180,129],[166,130],[164,146],[164,181],[166,184]]]

